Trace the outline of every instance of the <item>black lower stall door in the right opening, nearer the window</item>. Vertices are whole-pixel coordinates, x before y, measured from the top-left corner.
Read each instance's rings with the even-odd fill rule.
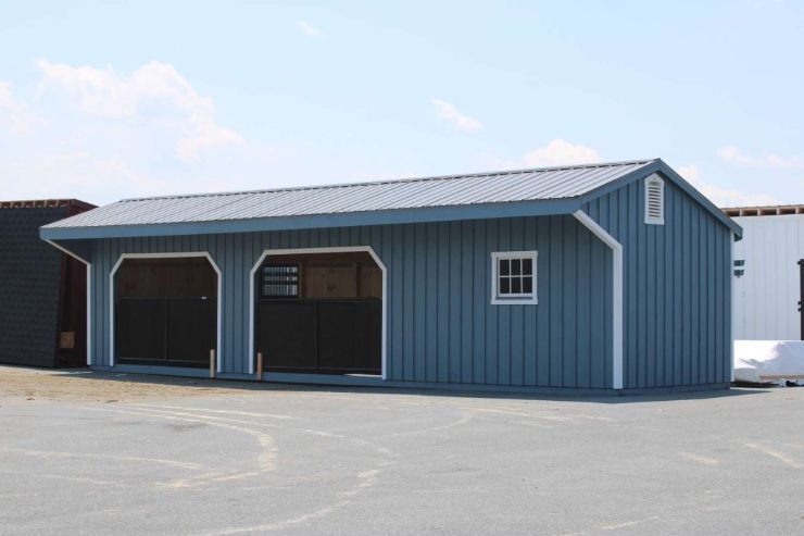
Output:
[[[263,300],[256,347],[275,372],[380,374],[381,300]]]

